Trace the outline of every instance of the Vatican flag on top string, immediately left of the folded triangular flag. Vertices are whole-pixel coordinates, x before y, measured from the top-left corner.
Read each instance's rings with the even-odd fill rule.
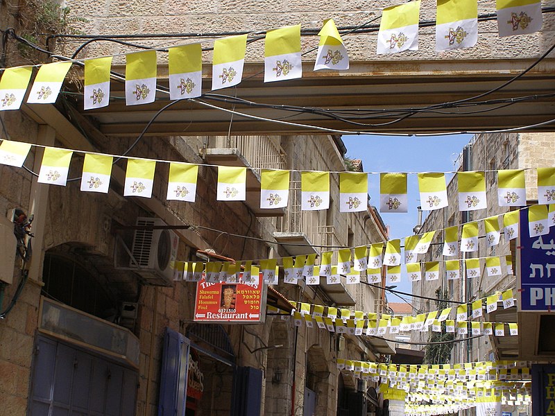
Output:
[[[301,76],[300,24],[267,31],[264,43],[264,83]]]

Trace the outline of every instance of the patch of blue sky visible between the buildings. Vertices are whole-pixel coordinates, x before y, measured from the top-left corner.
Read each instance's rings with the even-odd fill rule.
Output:
[[[472,135],[437,137],[400,136],[343,136],[347,156],[362,159],[365,172],[448,172],[454,170],[454,162]],[[447,176],[447,182],[452,175]],[[409,207],[407,214],[381,214],[390,227],[391,239],[402,239],[413,234],[418,220],[420,205],[416,175],[408,179]],[[369,175],[368,193],[370,204],[379,205],[379,175]],[[411,292],[406,275],[397,290]],[[390,302],[400,302],[388,295]]]

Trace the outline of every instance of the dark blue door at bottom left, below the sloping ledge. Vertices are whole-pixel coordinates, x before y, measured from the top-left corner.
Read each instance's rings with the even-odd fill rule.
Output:
[[[30,416],[133,416],[137,372],[71,345],[37,337]]]

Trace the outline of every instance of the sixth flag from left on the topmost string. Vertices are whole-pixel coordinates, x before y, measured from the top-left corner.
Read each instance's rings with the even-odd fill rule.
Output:
[[[247,35],[223,37],[214,42],[212,89],[233,87],[243,78]]]

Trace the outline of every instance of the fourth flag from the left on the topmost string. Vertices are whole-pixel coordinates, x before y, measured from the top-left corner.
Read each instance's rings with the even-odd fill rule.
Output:
[[[153,103],[156,98],[156,51],[126,55],[126,105]]]

